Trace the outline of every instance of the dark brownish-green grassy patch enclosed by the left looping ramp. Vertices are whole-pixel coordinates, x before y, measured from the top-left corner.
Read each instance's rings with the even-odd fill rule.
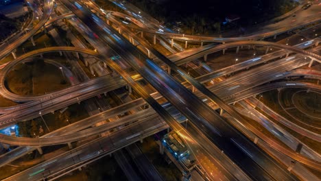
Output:
[[[70,86],[64,79],[58,67],[46,64],[43,59],[34,58],[32,62],[16,65],[8,73],[5,84],[12,93],[43,95]]]

